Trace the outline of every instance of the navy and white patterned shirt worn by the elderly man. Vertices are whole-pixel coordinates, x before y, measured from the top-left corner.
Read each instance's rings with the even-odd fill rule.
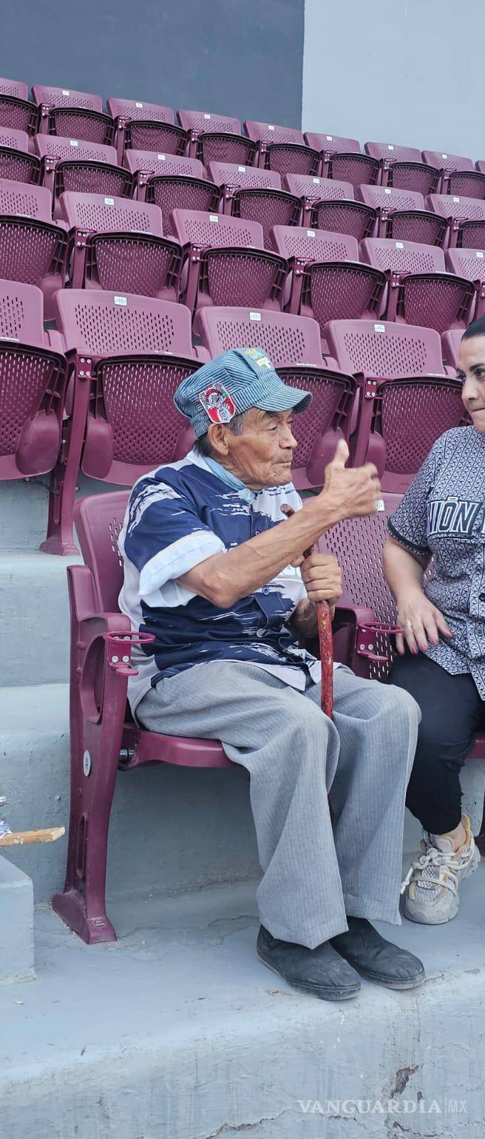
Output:
[[[264,588],[221,609],[179,584],[194,566],[240,546],[285,521],[281,505],[302,500],[291,483],[253,492],[223,477],[213,460],[194,451],[143,475],[134,484],[120,534],[124,584],[120,608],[132,629],[155,642],[132,653],[129,682],[133,713],[159,680],[211,661],[250,661],[303,690],[321,666],[288,628],[306,597],[299,570],[287,566]]]

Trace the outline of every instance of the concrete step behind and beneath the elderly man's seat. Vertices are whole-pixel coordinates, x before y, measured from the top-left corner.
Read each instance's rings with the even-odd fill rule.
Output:
[[[2,814],[11,829],[68,827],[68,686],[0,689]],[[120,772],[108,849],[108,896],[156,888],[203,888],[258,874],[242,769],[196,770],[157,764]],[[66,838],[8,847],[28,874],[35,900],[61,890]]]

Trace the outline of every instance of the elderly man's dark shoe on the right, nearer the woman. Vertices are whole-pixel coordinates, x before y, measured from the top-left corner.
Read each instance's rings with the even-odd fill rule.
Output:
[[[425,969],[418,957],[386,941],[365,918],[347,917],[347,924],[348,931],[332,937],[331,944],[361,977],[386,989],[422,985]]]

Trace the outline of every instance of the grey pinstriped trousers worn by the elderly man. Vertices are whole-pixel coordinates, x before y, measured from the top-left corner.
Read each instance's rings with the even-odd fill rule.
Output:
[[[406,691],[337,669],[331,721],[319,685],[298,693],[257,665],[209,662],[159,681],[137,718],[151,731],[220,739],[248,770],[257,904],[273,937],[313,949],[347,928],[346,915],[401,924],[420,719]]]

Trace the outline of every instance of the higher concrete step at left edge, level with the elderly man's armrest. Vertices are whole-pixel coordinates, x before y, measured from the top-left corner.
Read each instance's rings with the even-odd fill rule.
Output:
[[[0,686],[68,679],[66,567],[80,560],[76,556],[0,551]]]

